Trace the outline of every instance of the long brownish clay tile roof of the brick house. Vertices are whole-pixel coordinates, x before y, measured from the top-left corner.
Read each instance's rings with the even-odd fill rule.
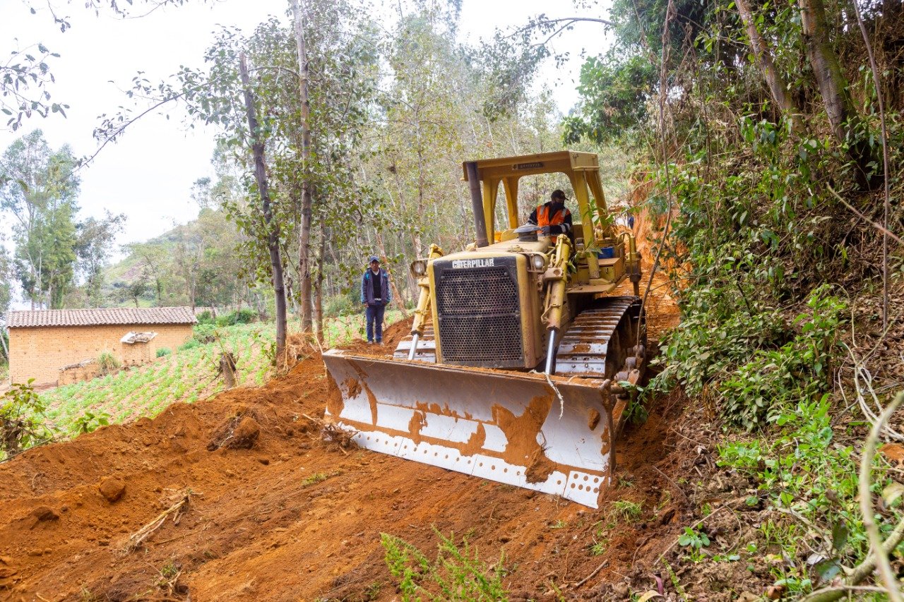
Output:
[[[40,309],[11,311],[7,328],[38,326],[102,326],[145,324],[196,324],[191,307],[105,307],[101,309]]]

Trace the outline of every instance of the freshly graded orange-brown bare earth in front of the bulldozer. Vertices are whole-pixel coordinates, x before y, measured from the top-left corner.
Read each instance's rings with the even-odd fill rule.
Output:
[[[653,336],[677,320],[665,290],[651,296]],[[406,327],[390,328],[388,353]],[[398,599],[380,533],[432,555],[433,526],[468,533],[489,563],[504,553],[515,600],[556,599],[553,585],[566,599],[625,599],[627,584],[656,588],[655,561],[674,555],[699,516],[681,484],[714,469],[699,443],[704,410],[673,394],[626,428],[621,484],[593,511],[325,442],[306,417],[323,416],[328,380],[312,352],[259,389],[175,404],[0,465],[0,599]],[[186,505],[127,551],[130,535],[186,493]],[[640,504],[641,514],[621,518],[616,500]],[[597,555],[594,542],[603,544]],[[737,597],[719,589],[698,599]]]

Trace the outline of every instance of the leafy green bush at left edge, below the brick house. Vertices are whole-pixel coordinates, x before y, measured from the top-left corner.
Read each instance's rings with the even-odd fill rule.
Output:
[[[0,456],[15,456],[52,437],[44,425],[47,404],[34,392],[33,381],[15,383],[0,398]]]

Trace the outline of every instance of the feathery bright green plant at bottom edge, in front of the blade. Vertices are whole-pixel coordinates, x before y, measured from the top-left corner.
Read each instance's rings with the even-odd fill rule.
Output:
[[[462,539],[460,548],[455,536],[446,537],[434,528],[439,538],[436,560],[415,546],[388,533],[381,533],[386,565],[398,580],[398,589],[406,602],[428,599],[435,602],[498,602],[508,599],[502,585],[505,575],[504,557],[488,568],[477,551]],[[423,597],[423,598],[422,598]]]

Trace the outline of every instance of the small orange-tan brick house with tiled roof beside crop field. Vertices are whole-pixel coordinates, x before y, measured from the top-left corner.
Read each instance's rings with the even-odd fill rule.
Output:
[[[128,334],[153,332],[156,349],[174,350],[191,338],[196,323],[191,307],[11,311],[6,316],[10,381],[56,384],[61,368],[104,352],[120,362],[131,360],[137,350],[122,342]]]

